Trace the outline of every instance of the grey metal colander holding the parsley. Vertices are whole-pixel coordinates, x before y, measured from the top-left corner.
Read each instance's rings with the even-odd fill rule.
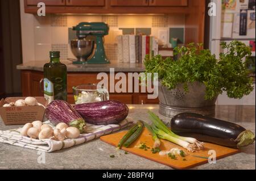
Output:
[[[159,82],[159,113],[173,117],[181,112],[201,113],[214,116],[217,96],[212,100],[205,100],[205,85],[201,82],[188,83],[188,92],[183,89],[183,83],[175,89],[168,90]]]

